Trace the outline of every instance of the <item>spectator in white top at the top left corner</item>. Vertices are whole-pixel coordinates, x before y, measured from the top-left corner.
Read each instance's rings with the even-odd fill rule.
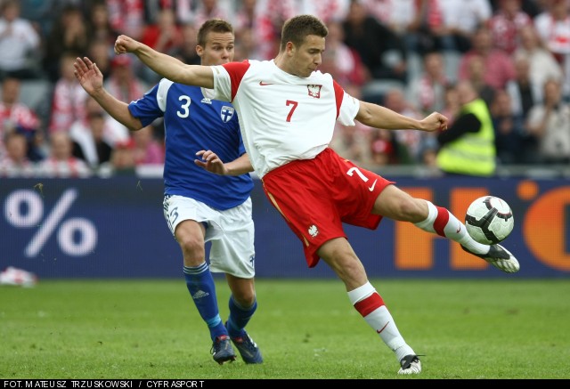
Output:
[[[20,2],[4,0],[0,17],[0,79],[36,78],[40,36],[29,20],[20,18]]]

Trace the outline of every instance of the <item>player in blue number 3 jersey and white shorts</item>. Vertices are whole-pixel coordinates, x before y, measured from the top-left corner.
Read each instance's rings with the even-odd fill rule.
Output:
[[[196,52],[204,65],[232,61],[234,34],[224,20],[208,20],[198,32]],[[77,58],[76,77],[85,91],[130,130],[164,118],[166,160],[164,215],[183,252],[183,274],[192,301],[208,325],[216,362],[234,361],[232,343],[246,363],[263,361],[244,329],[256,312],[254,224],[248,170],[235,176],[211,174],[193,162],[196,150],[211,148],[224,158],[248,159],[232,104],[213,100],[212,91],[175,84],[165,78],[141,99],[118,101],[102,84],[102,73],[89,59]],[[207,68],[209,69],[209,68]],[[212,242],[209,266],[205,243]],[[230,316],[219,315],[210,271],[224,272],[232,290]]]

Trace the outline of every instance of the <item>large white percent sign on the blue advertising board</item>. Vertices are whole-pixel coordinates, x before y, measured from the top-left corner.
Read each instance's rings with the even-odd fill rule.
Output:
[[[93,251],[97,245],[97,230],[94,223],[83,217],[63,220],[76,199],[76,189],[65,190],[51,212],[41,222],[44,217],[44,201],[36,191],[15,190],[8,196],[4,204],[6,220],[16,228],[38,226],[24,250],[24,255],[29,258],[36,257],[56,229],[57,241],[64,254],[82,256]]]

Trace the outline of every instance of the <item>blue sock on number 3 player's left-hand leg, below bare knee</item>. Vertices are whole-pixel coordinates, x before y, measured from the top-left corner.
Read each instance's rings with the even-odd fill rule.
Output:
[[[184,266],[184,279],[192,301],[198,308],[199,315],[208,325],[212,340],[216,339],[217,336],[228,335],[220,318],[216,285],[208,263],[202,263],[197,267]]]

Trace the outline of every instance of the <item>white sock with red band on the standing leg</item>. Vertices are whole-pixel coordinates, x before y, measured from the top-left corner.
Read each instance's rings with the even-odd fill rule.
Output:
[[[395,352],[398,361],[401,361],[406,355],[415,354],[403,340],[403,336],[400,335],[400,331],[395,325],[394,318],[370,282],[348,292],[348,298],[368,325],[379,334],[390,350]]]

